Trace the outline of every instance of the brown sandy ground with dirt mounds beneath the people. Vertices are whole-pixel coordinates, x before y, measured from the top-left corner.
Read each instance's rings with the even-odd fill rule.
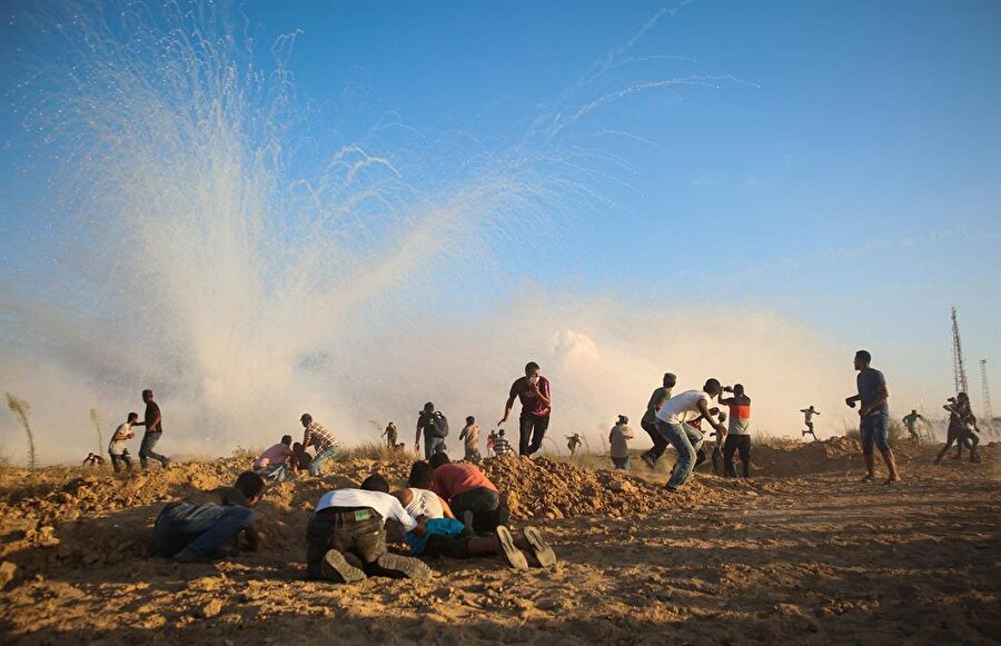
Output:
[[[544,528],[561,563],[430,563],[429,582],[303,580],[319,494],[374,466],[284,484],[259,508],[260,554],[212,565],[150,557],[163,500],[225,484],[234,460],[109,473],[0,471],[3,642],[998,643],[1001,449],[930,466],[898,451],[904,481],[860,484],[850,440],[759,451],[750,481],[630,476],[519,458],[486,468],[515,493],[516,525]],[[383,465],[403,477],[407,465]],[[773,475],[761,475],[771,473]]]

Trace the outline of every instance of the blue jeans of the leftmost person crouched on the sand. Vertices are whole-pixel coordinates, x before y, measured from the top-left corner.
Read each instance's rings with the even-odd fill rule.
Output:
[[[227,540],[254,524],[254,510],[218,505],[167,505],[157,517],[153,539],[157,550],[174,556],[182,549],[206,558]]]

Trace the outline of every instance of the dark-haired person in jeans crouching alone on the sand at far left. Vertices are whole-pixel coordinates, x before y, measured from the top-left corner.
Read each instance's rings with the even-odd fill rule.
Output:
[[[254,507],[265,490],[264,478],[239,475],[232,487],[198,491],[163,507],[153,528],[157,550],[178,563],[201,563],[229,554],[242,533],[251,551],[262,539],[254,523]],[[230,545],[231,544],[231,545]]]

